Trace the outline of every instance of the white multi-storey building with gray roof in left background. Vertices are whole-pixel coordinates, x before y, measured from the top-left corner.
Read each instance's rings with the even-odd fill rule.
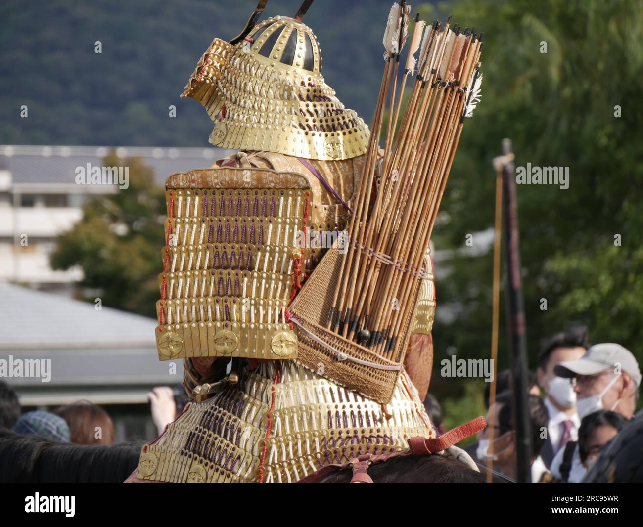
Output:
[[[119,157],[140,156],[163,184],[169,175],[212,165],[221,148],[118,147]],[[82,217],[88,195],[114,192],[109,185],[76,183],[78,166],[102,166],[107,147],[0,145],[0,282],[68,293],[80,269],[53,271],[55,238]]]

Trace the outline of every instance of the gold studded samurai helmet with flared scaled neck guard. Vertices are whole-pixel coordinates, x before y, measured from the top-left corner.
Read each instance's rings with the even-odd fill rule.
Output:
[[[210,143],[323,161],[365,154],[368,127],[324,82],[311,28],[276,16],[231,42],[212,41],[181,94],[208,111]]]

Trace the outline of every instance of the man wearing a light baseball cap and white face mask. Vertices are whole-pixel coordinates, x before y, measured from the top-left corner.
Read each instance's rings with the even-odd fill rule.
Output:
[[[600,409],[615,411],[627,419],[634,415],[641,373],[634,355],[620,344],[595,344],[581,359],[556,364],[554,373],[574,378],[581,420]],[[577,443],[568,443],[561,449],[550,469],[555,478],[570,483],[581,481],[586,469]]]

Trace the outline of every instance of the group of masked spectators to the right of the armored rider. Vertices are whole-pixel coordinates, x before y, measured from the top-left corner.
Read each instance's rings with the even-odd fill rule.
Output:
[[[583,327],[552,337],[528,379],[531,481],[582,481],[602,449],[632,420],[640,382],[634,355],[620,344],[588,346]],[[496,375],[493,401],[489,391],[487,386],[489,426],[466,451],[482,466],[491,459],[493,470],[514,480],[518,460],[508,370]],[[429,395],[425,406],[433,422],[441,423],[435,397]],[[442,432],[439,426],[437,430]]]

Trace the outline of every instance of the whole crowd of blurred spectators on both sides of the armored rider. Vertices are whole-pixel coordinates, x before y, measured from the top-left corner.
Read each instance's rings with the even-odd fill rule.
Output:
[[[532,445],[531,481],[582,481],[599,454],[635,414],[641,373],[634,355],[614,343],[588,346],[586,328],[550,339],[529,372]],[[500,371],[496,397],[485,390],[488,426],[466,447],[480,467],[491,460],[496,475],[517,479],[516,426],[511,375]],[[167,386],[148,394],[152,420],[161,434],[176,418],[174,392]],[[424,406],[437,434],[444,434],[442,409],[428,394]],[[0,428],[77,445],[113,445],[114,424],[95,404],[79,401],[53,409],[23,412],[15,391],[0,381]],[[148,438],[150,439],[150,438]],[[643,456],[642,456],[643,457]]]

